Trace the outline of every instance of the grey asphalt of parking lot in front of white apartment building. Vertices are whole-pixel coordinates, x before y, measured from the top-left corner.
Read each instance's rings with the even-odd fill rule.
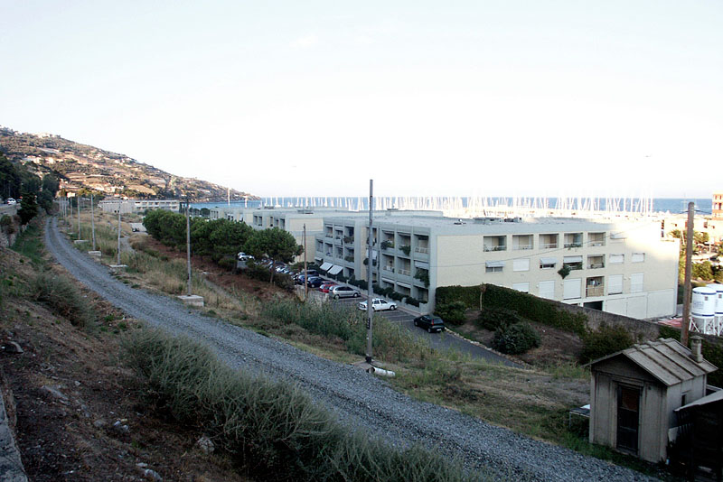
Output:
[[[358,302],[366,299],[367,297],[362,293],[360,298],[343,298],[340,300],[332,300],[332,302],[339,303],[341,305],[350,305],[356,308]],[[412,314],[403,308],[398,308],[394,311],[379,311],[377,314],[393,323],[399,323],[399,325],[409,329],[419,338],[427,339],[432,348],[455,349],[459,352],[467,353],[472,357],[482,358],[491,363],[499,363],[506,366],[520,366],[505,357],[497,355],[487,348],[471,343],[465,338],[455,336],[447,331],[443,331],[441,333],[427,333],[427,330],[414,326],[414,319],[417,315]]]

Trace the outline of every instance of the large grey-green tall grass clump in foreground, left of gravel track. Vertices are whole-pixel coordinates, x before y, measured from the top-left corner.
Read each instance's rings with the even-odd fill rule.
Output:
[[[348,431],[298,388],[223,365],[188,338],[136,330],[124,341],[127,365],[155,402],[180,422],[203,427],[222,450],[264,480],[491,480],[437,452],[394,450]]]

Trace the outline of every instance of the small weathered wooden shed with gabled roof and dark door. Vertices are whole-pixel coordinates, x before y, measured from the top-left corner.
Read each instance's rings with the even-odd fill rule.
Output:
[[[590,442],[659,462],[667,457],[674,411],[705,396],[717,368],[672,338],[660,338],[590,363]]]

